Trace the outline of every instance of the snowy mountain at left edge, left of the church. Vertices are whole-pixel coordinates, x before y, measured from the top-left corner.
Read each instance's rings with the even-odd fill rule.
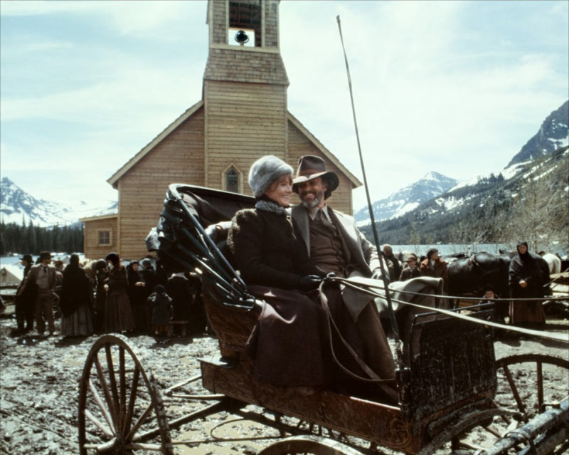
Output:
[[[78,201],[73,204],[36,199],[12,182],[8,177],[0,181],[0,220],[4,223],[55,226],[75,224],[80,218],[117,212],[117,202]]]

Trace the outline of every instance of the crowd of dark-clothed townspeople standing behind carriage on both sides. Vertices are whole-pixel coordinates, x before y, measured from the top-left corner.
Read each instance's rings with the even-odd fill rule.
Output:
[[[534,289],[538,286],[533,286],[541,283],[535,258],[523,242],[517,252],[510,271],[510,297],[543,297]],[[422,276],[442,278],[448,291],[448,263],[436,248],[420,258],[415,253],[398,258],[386,244],[383,258],[390,282]],[[35,264],[29,254],[21,263],[24,271],[16,296],[16,320],[23,332],[33,330],[35,323],[38,335],[45,333],[46,325],[53,335],[54,313],[60,313],[61,335],[66,336],[134,333],[164,339],[173,333],[198,333],[206,326],[197,278],[189,273],[167,276],[159,260],[147,257],[125,266],[117,253],[109,253],[104,259],[81,264],[73,254],[65,266],[63,261],[52,265],[50,253],[43,252]],[[493,288],[485,288],[482,296],[484,301],[499,297]],[[511,308],[516,311],[510,310],[510,323],[545,322],[541,305],[523,302]]]

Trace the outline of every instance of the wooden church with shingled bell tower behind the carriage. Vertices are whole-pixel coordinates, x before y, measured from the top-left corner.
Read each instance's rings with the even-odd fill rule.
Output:
[[[81,219],[87,258],[110,251],[127,259],[146,256],[144,239],[171,183],[252,194],[248,170],[263,155],[276,155],[295,170],[302,155],[324,158],[340,179],[329,202],[351,214],[352,189],[361,182],[287,110],[279,3],[208,1],[203,99],[107,180],[119,192],[118,213]]]

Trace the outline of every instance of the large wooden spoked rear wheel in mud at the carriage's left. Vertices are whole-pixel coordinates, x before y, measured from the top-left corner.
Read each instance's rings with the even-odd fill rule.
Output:
[[[87,454],[173,454],[159,388],[116,335],[92,345],[79,389],[79,448]]]

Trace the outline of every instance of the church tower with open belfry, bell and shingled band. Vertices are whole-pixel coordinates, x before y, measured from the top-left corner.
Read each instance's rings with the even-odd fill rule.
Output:
[[[203,75],[206,186],[247,193],[244,180],[255,159],[267,154],[287,159],[289,80],[279,48],[279,4],[208,2],[209,54]],[[238,33],[240,40],[235,41]],[[245,35],[248,43],[243,43]]]

